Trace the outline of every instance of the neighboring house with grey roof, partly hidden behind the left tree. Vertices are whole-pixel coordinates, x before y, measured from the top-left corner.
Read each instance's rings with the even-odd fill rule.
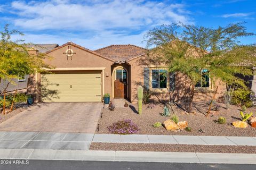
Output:
[[[58,46],[59,46],[58,44],[28,45],[29,48],[36,49],[39,53],[45,53]],[[19,92],[27,92],[28,78],[29,78],[29,75],[27,74],[27,75],[24,75],[22,79],[12,79],[12,83],[10,83],[10,81],[7,81],[7,80],[2,80],[0,81],[0,91],[3,91],[8,85],[6,92],[13,92],[16,89]]]

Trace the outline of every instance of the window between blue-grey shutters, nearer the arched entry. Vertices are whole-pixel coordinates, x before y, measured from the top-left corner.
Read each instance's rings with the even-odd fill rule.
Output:
[[[167,70],[152,70],[152,88],[167,88]]]

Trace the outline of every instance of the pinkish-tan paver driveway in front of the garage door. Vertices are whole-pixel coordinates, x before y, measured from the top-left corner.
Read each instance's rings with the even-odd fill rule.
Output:
[[[0,131],[94,133],[102,103],[42,103],[0,124]]]

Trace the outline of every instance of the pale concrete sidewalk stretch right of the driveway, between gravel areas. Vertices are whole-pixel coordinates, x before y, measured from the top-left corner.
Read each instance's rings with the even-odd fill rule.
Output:
[[[256,137],[94,134],[92,142],[256,146]]]

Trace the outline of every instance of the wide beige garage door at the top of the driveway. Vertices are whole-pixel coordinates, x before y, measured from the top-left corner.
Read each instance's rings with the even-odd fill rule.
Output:
[[[101,101],[101,71],[55,71],[41,84],[44,102]]]

